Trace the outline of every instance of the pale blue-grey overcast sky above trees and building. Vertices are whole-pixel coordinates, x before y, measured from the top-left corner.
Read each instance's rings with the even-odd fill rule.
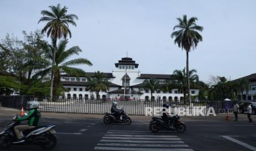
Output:
[[[126,56],[139,63],[141,73],[171,74],[186,66],[186,53],[170,37],[176,18],[197,16],[204,27],[203,42],[189,55],[190,69],[200,80],[210,75],[236,79],[256,73],[256,1],[0,1],[0,39],[7,33],[23,38],[22,31],[41,29],[37,24],[48,5],[66,5],[79,17],[70,27],[69,47],[93,66],[87,72],[111,72]],[[70,58],[70,59],[72,59]]]

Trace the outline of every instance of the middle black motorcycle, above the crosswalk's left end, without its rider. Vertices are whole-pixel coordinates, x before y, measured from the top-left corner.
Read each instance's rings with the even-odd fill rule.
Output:
[[[128,114],[124,112],[123,108],[120,110],[121,115],[122,115],[122,120],[116,119],[115,115],[112,113],[106,113],[103,122],[105,124],[110,124],[110,123],[124,123],[126,125],[130,125],[132,123],[132,120],[128,117]]]

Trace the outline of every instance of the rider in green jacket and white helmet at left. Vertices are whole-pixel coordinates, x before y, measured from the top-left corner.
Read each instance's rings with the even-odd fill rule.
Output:
[[[41,113],[38,111],[39,102],[37,101],[29,101],[29,113],[28,115],[24,115],[23,117],[17,118],[17,121],[29,120],[26,125],[17,125],[14,126],[14,131],[18,138],[18,141],[15,143],[24,142],[24,138],[21,136],[20,131],[25,131],[36,127],[39,124],[39,120],[41,118]]]

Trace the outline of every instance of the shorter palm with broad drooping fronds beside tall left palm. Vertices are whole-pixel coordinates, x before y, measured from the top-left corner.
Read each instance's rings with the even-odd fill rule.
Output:
[[[74,67],[69,67],[69,66],[74,66],[74,65],[88,65],[88,66],[92,66],[92,63],[87,60],[87,59],[83,59],[83,58],[78,58],[78,59],[74,59],[74,60],[69,60],[66,61],[70,56],[76,54],[79,55],[79,52],[81,52],[82,50],[78,47],[78,46],[74,46],[72,48],[69,48],[66,50],[68,44],[68,40],[62,40],[61,42],[59,42],[58,47],[57,47],[57,51],[56,51],[56,56],[55,56],[55,75],[54,75],[54,96],[57,96],[57,87],[59,84],[59,80],[60,80],[60,76],[61,73],[67,73],[70,75],[75,75],[76,77],[79,77],[80,75],[84,75],[86,76],[86,73],[83,71],[83,69],[79,69],[79,68],[74,68]],[[42,60],[41,62],[44,62],[44,67],[43,70],[37,72],[34,75],[35,77],[41,76],[41,77],[45,77],[47,74],[49,74],[52,71],[52,60],[53,60],[53,46],[45,43],[43,44],[43,49],[45,50],[45,57],[46,59]],[[66,61],[66,62],[65,62]]]

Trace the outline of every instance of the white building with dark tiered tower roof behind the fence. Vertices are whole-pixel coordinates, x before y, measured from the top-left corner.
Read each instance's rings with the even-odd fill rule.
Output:
[[[166,81],[176,81],[171,74],[142,74],[138,69],[139,64],[135,63],[130,57],[123,57],[118,63],[115,63],[116,69],[111,73],[104,73],[110,82],[110,90],[107,92],[100,92],[99,97],[126,99],[130,100],[149,100],[151,97],[150,90],[143,89],[141,86],[144,80],[156,78],[160,84]],[[88,73],[91,78],[94,78],[94,73]],[[68,89],[65,92],[65,97],[73,98],[96,98],[95,93],[91,93],[88,89],[88,79],[84,77],[77,77],[64,74],[61,77],[63,87]],[[190,94],[198,95],[198,89],[190,89]],[[154,100],[183,100],[183,92],[178,89],[173,89],[168,92],[156,90],[152,94]]]

